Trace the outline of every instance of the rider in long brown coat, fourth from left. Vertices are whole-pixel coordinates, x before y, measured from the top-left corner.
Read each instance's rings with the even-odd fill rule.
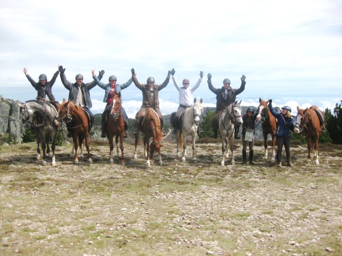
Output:
[[[149,77],[147,79],[147,84],[141,84],[139,83],[138,79],[136,78],[136,74],[134,71],[134,68],[131,69],[132,72],[132,79],[136,87],[138,87],[139,90],[143,92],[143,104],[140,108],[140,110],[137,112],[135,115],[135,129],[134,129],[134,134],[137,135],[139,134],[140,130],[140,125],[141,122],[146,114],[146,111],[148,108],[153,108],[155,112],[157,112],[159,120],[160,120],[160,125],[162,128],[162,132],[165,135],[165,132],[163,130],[164,126],[164,118],[163,115],[160,113],[159,110],[159,98],[158,98],[158,92],[162,89],[164,89],[169,81],[170,81],[170,75],[171,75],[171,70],[168,71],[168,76],[166,77],[165,81],[161,85],[155,85],[154,84],[154,78]]]

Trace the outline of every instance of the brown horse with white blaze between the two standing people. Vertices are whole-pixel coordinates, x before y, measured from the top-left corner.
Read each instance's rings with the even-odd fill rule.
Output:
[[[276,130],[277,130],[277,119],[272,115],[271,111],[268,108],[268,101],[264,101],[259,98],[259,106],[257,107],[257,115],[256,121],[258,124],[261,122],[262,126],[262,135],[264,136],[264,148],[265,154],[264,158],[267,161],[267,136],[271,134],[272,136],[272,158],[271,161],[276,161]],[[258,125],[257,124],[257,125]]]

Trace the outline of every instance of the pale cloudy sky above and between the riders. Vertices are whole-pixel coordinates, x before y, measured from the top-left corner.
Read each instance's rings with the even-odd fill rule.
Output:
[[[161,84],[168,70],[190,79],[190,87],[204,72],[194,97],[215,106],[207,74],[214,87],[225,78],[238,88],[242,105],[258,105],[272,98],[274,106],[289,105],[295,113],[318,105],[333,109],[342,99],[342,0],[145,0],[46,1],[1,0],[0,95],[26,101],[37,92],[22,70],[38,81],[48,80],[63,65],[74,82],[81,73],[92,81],[91,70],[115,75],[121,84],[131,77]],[[60,78],[52,92],[68,97]],[[94,114],[102,113],[104,90],[90,91]],[[132,83],[122,91],[128,117],[140,109],[142,94]],[[162,114],[179,105],[172,80],[159,92]]]

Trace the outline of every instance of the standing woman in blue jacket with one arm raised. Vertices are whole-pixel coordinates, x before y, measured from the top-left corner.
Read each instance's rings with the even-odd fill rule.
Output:
[[[287,166],[293,166],[291,163],[291,155],[290,155],[290,145],[291,145],[291,137],[290,137],[290,129],[294,128],[294,119],[291,117],[291,108],[289,106],[283,106],[282,113],[278,113],[272,106],[272,99],[268,100],[268,107],[272,113],[272,115],[277,118],[277,133],[276,133],[276,141],[277,141],[277,161],[278,167],[281,167],[281,152],[282,146],[285,146]]]

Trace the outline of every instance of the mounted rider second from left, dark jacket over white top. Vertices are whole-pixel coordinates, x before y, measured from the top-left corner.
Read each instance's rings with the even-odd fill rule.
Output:
[[[89,134],[93,135],[94,131],[92,130],[94,123],[94,114],[91,113],[90,108],[92,107],[90,92],[89,90],[96,86],[95,81],[84,83],[83,76],[81,74],[76,75],[75,83],[69,82],[64,74],[65,68],[62,65],[58,66],[59,71],[61,72],[61,80],[66,89],[69,90],[69,100],[74,101],[77,106],[81,106],[85,112],[89,114],[90,117],[90,126],[89,126]],[[98,79],[101,80],[105,74],[104,70],[99,72]],[[69,137],[69,135],[68,135]]]

